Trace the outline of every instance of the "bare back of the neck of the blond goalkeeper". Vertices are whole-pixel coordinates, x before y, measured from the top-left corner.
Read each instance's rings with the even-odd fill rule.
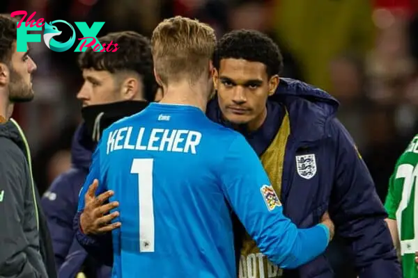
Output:
[[[209,90],[209,84],[205,83],[196,83],[196,85],[191,85],[187,81],[173,83],[164,88],[164,97],[160,103],[195,106],[206,113]]]

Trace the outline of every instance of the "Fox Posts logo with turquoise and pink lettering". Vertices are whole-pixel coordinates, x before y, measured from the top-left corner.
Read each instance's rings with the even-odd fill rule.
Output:
[[[47,47],[52,51],[56,52],[63,52],[70,49],[76,40],[76,31],[75,28],[65,20],[54,20],[53,22],[44,22],[45,19],[40,18],[36,22],[33,16],[36,15],[36,12],[32,13],[26,22],[24,19],[26,18],[26,11],[24,10],[17,10],[11,13],[11,17],[15,17],[18,15],[22,15],[23,17],[17,23],[17,52],[25,52],[27,50],[27,43],[28,42],[40,42],[41,35],[40,34],[33,34],[28,33],[28,31],[42,31],[42,27],[44,27],[43,32],[43,40]],[[59,42],[54,39],[54,37],[61,35],[63,32],[59,30],[54,24],[65,24],[70,27],[72,31],[72,35],[66,42]],[[93,22],[91,27],[88,27],[86,22],[75,22],[75,26],[79,29],[82,33],[83,38],[79,38],[80,40],[78,46],[75,48],[75,52],[84,52],[88,47],[92,47],[93,51],[100,51],[100,52],[115,52],[119,49],[118,44],[114,44],[110,42],[109,44],[100,44],[99,40],[96,38],[100,29],[103,27],[104,22]],[[64,27],[65,28],[65,27]],[[104,48],[106,47],[106,48]]]

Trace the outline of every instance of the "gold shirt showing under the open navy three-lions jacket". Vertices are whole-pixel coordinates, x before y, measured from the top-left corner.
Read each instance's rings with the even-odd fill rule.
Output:
[[[291,122],[286,108],[285,112],[277,135],[260,158],[272,183],[272,187],[279,197],[281,195],[284,154],[286,152],[288,136],[291,134]],[[270,263],[267,257],[261,254],[255,241],[252,240],[249,234],[246,234],[242,243],[239,277],[277,278],[281,276],[282,270],[277,265]]]

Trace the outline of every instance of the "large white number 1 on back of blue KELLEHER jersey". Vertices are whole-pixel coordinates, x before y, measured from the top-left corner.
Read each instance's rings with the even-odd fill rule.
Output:
[[[138,176],[139,252],[154,252],[154,204],[152,158],[134,158],[131,174]]]

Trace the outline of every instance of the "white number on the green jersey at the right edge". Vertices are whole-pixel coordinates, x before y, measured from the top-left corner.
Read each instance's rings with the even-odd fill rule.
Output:
[[[398,226],[399,241],[401,242],[401,255],[415,254],[418,251],[418,188],[415,186],[414,202],[414,236],[409,240],[401,240],[402,236],[402,213],[410,204],[412,188],[417,183],[418,165],[401,164],[396,171],[395,179],[403,179],[402,198],[396,211],[396,222]]]

